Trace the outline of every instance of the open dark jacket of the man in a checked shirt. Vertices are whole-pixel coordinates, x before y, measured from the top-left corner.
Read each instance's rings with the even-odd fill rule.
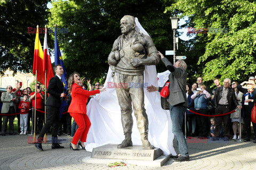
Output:
[[[214,105],[215,106],[217,106],[219,104],[219,101],[222,97],[222,90],[223,90],[223,86],[218,87],[215,90],[215,96],[214,96]],[[235,95],[235,90],[230,87],[228,87],[227,100],[228,100],[228,108],[230,111],[233,110],[236,106],[238,106],[238,102],[236,100],[236,95]]]

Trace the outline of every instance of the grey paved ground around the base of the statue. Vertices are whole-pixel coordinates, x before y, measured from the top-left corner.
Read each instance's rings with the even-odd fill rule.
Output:
[[[50,137],[50,136],[47,136]],[[30,135],[0,135],[0,168],[7,169],[255,169],[256,143],[225,141],[205,141],[197,138],[188,141],[189,162],[169,162],[162,167],[123,166],[109,168],[103,164],[85,164],[84,157],[91,152],[69,150],[71,137],[61,136],[64,149],[51,149],[50,144],[43,144],[44,151],[39,151]],[[174,144],[174,147],[176,145]],[[177,148],[175,148],[177,150]]]

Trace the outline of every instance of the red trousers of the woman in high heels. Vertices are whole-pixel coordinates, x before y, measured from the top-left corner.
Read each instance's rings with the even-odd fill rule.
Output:
[[[81,113],[70,113],[70,116],[74,118],[76,124],[78,125],[78,129],[73,137],[72,143],[77,145],[77,142],[80,138],[80,141],[86,142],[87,134],[91,126],[91,122],[87,114]]]

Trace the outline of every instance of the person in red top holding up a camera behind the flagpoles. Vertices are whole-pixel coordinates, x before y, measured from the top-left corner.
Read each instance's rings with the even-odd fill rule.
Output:
[[[35,86],[36,92],[31,92],[30,94],[30,101],[32,101],[32,107],[35,107],[35,99],[36,99],[36,109],[40,111],[44,111],[44,92],[42,87],[39,83]],[[38,133],[41,132],[43,128],[43,121],[44,121],[44,113],[36,111],[36,131],[38,125]]]

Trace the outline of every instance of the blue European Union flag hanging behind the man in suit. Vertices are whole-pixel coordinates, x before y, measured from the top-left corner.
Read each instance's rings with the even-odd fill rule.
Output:
[[[68,90],[68,78],[67,78],[67,74],[66,74],[66,69],[61,57],[61,53],[60,53],[60,47],[57,41],[57,28],[55,27],[55,41],[54,41],[54,59],[55,59],[55,65],[60,64],[63,68],[63,75],[61,77],[62,79],[62,83],[64,86],[64,92],[66,92]],[[60,107],[60,117],[62,116],[63,110],[65,108],[65,106],[67,106],[67,101],[62,101],[61,103],[61,107]]]

